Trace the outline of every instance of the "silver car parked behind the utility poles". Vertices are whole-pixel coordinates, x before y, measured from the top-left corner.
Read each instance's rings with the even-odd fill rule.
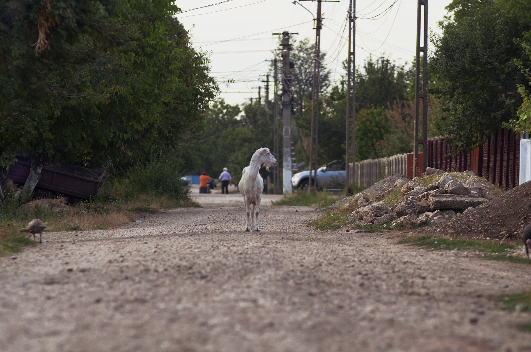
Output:
[[[317,187],[329,191],[345,189],[345,160],[335,160],[317,169]],[[312,171],[312,185],[313,185]],[[297,172],[292,177],[292,186],[307,190],[310,184],[310,171]]]

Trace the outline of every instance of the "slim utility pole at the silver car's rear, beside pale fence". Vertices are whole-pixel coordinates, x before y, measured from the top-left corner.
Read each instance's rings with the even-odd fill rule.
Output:
[[[354,1],[354,3],[353,3]],[[356,0],[350,0],[348,6],[348,64],[347,64],[347,130],[345,133],[345,197],[348,185],[356,179]],[[351,117],[352,116],[352,117]],[[348,134],[352,121],[352,149]],[[352,175],[348,167],[352,155]],[[354,191],[354,190],[353,190]]]

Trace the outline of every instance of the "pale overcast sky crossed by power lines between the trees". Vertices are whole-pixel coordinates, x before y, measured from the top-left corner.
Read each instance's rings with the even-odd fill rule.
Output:
[[[191,30],[193,47],[210,52],[212,75],[222,90],[220,96],[227,103],[239,104],[256,98],[256,88],[264,86],[259,81],[265,80],[260,75],[266,74],[269,66],[264,60],[272,58],[271,50],[276,49],[278,43],[278,36],[273,36],[273,32],[298,32],[294,36],[297,40],[315,40],[313,19],[317,3],[302,1],[307,11],[293,4],[293,0],[226,0],[217,4],[222,1],[176,1],[183,11],[177,18]],[[447,15],[444,7],[450,2],[429,2],[430,33],[440,33],[437,22]],[[192,10],[211,4],[216,5]],[[341,61],[347,58],[348,4],[349,0],[322,3],[321,51],[328,53],[324,64],[336,81],[344,74]],[[385,55],[398,64],[412,61],[416,44],[416,0],[357,0],[356,8],[356,65],[363,65],[370,54]],[[367,19],[382,12],[380,18]],[[236,82],[226,86],[229,79]]]

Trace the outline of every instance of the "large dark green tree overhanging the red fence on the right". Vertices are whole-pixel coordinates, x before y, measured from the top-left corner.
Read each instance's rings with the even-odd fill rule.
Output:
[[[449,136],[449,144],[467,151],[513,118],[522,104],[517,84],[526,79],[514,61],[525,66],[531,61],[514,39],[529,31],[531,22],[494,0],[454,1],[451,10],[455,15],[442,23],[442,37],[432,38],[429,91],[447,112],[437,128]]]

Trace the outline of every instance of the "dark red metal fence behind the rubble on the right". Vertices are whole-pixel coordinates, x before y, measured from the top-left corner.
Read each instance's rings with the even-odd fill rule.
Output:
[[[483,146],[454,157],[448,155],[452,147],[440,137],[428,138],[427,166],[429,168],[459,171],[474,171],[503,189],[518,186],[520,172],[520,135],[502,128],[492,134]]]

